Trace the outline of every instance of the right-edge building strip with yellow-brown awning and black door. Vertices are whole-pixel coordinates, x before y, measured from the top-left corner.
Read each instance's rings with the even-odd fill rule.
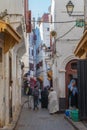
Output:
[[[84,1],[84,32],[78,45],[75,48],[74,54],[78,60],[78,89],[79,89],[79,118],[80,120],[87,119],[87,0]]]

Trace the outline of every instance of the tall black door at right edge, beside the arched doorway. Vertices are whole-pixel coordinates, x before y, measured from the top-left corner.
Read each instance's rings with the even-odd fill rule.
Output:
[[[78,61],[79,117],[87,120],[87,59]]]

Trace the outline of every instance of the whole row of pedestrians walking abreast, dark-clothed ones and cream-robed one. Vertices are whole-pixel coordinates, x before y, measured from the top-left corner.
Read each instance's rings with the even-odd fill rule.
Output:
[[[38,110],[41,104],[42,109],[48,109],[50,114],[58,112],[58,98],[57,93],[51,87],[48,89],[44,87],[42,90],[38,89],[38,86],[34,88],[28,87],[27,95],[29,97],[29,108]]]

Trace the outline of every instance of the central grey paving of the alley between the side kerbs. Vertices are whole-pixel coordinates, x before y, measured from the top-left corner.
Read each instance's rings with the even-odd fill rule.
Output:
[[[74,130],[63,114],[50,115],[48,110],[29,110],[24,105],[15,130]]]

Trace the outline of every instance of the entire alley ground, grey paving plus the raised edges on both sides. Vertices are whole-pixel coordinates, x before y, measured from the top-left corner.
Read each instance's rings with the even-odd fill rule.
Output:
[[[73,122],[64,114],[50,115],[48,110],[29,109],[28,97],[22,97],[22,109],[15,121],[0,130],[87,130],[87,122]]]

